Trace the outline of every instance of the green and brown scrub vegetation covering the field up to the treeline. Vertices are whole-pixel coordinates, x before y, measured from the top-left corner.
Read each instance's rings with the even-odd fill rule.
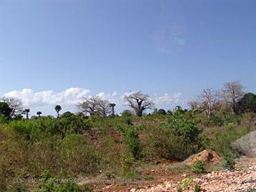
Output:
[[[14,110],[14,105],[1,101],[0,191],[90,191],[87,185],[77,185],[79,176],[140,179],[139,167],[160,159],[183,161],[204,149],[224,156],[223,166],[232,170],[233,159],[240,154],[231,144],[256,130],[256,114],[246,110],[251,107],[248,103],[255,102],[251,94],[235,100],[239,113],[216,102],[210,114],[203,110],[205,105],[193,103],[191,110],[177,106],[167,113],[159,109],[145,115],[143,111],[153,105],[149,96],[139,92],[125,100],[130,100],[133,111],[125,110],[120,116],[114,115],[114,103],[92,97],[77,105],[80,113],[67,111],[60,115],[61,107],[57,105],[58,118],[41,116],[38,111],[38,118],[30,119],[29,109],[25,109],[23,118],[18,116],[18,107]],[[206,169],[199,161],[192,167],[182,164],[170,171],[188,168],[196,174]],[[44,182],[31,183],[32,178]],[[65,179],[68,182],[61,182]],[[189,182],[184,182],[182,188]]]

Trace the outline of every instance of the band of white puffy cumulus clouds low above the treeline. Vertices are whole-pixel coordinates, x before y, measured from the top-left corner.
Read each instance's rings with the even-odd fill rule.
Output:
[[[125,109],[123,103],[124,96],[128,96],[134,92],[125,92],[123,94],[117,94],[116,91],[112,93],[100,92],[96,94],[103,100],[116,103],[116,111],[120,112]],[[42,92],[34,92],[31,89],[23,89],[20,91],[14,90],[3,94],[5,97],[19,98],[23,101],[25,107],[29,107],[32,111],[43,110],[44,114],[54,114],[54,105],[62,105],[64,111],[70,110],[75,112],[75,105],[77,102],[83,100],[85,97],[90,97],[90,90],[81,87],[70,87],[62,92],[54,92],[53,90],[46,90]],[[181,99],[181,93],[176,94],[154,94],[151,96],[155,107],[162,107],[164,109],[172,109],[176,105],[182,105],[183,100]]]

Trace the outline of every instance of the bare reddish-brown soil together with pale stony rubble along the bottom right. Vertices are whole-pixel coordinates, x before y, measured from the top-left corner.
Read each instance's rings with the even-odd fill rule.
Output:
[[[167,165],[157,165],[155,169],[144,172],[152,180],[123,184],[106,182],[97,187],[97,191],[130,192],[167,192],[194,191],[196,185],[200,191],[256,191],[256,158],[245,156],[238,160],[233,172],[225,169],[207,174],[177,174],[168,170]]]

